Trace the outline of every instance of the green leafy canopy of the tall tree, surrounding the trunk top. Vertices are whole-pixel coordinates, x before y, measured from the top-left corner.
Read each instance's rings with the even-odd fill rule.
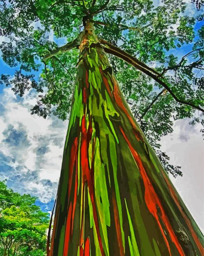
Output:
[[[181,100],[203,106],[203,27],[194,29],[203,17],[199,11],[202,1],[192,1],[190,7],[198,8],[195,17],[186,15],[187,2],[182,0],[163,0],[159,6],[151,0],[8,2],[2,0],[0,6],[0,35],[7,39],[0,49],[3,60],[17,67],[17,72],[13,78],[3,74],[1,81],[12,85],[20,96],[30,88],[39,92],[31,114],[68,118],[79,50],[46,61],[43,56],[59,42],[75,39],[88,17],[99,38],[154,67]],[[188,53],[178,56],[184,48]],[[169,164],[168,156],[160,152],[159,141],[173,132],[175,120],[190,118],[195,124],[202,113],[176,102],[169,92],[162,91],[162,85],[121,59],[111,55],[109,59],[136,120],[167,173],[182,175],[180,167]],[[41,72],[39,77],[34,76],[37,71]]]

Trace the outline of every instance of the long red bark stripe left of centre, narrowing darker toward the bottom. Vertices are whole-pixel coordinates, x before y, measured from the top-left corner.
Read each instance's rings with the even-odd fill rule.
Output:
[[[91,128],[91,125],[88,126],[89,128]],[[96,233],[97,233],[97,237],[98,237],[98,241],[99,241],[99,247],[101,250],[101,255],[105,256],[105,252],[103,250],[103,244],[102,244],[102,240],[101,240],[101,234],[99,231],[99,223],[98,223],[98,217],[97,217],[97,210],[96,210],[96,202],[94,199],[94,175],[91,176],[90,174],[90,169],[88,167],[88,139],[87,139],[87,134],[90,135],[90,131],[86,132],[86,118],[85,115],[83,115],[82,117],[82,121],[81,121],[81,130],[82,130],[82,134],[81,134],[81,168],[82,168],[82,176],[83,176],[83,180],[84,182],[87,182],[88,184],[88,191],[90,194],[90,199],[92,202],[92,208],[93,208],[93,217],[94,217],[94,223],[96,226]],[[88,142],[88,143],[87,143]]]

